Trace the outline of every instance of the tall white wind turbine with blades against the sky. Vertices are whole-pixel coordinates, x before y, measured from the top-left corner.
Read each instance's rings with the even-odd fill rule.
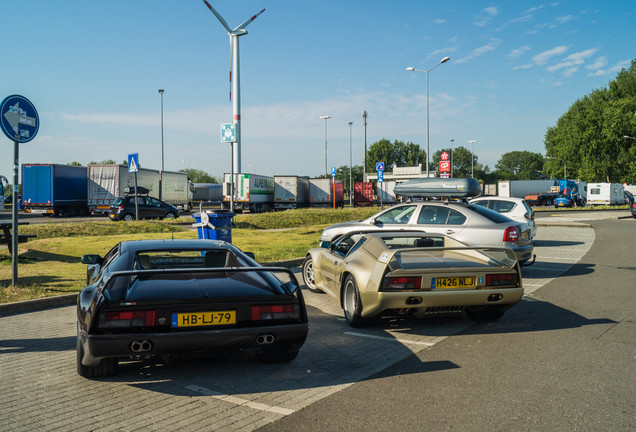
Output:
[[[203,3],[212,11],[212,13],[218,18],[227,34],[230,36],[230,101],[232,101],[232,117],[233,122],[236,125],[236,145],[232,149],[233,171],[235,173],[241,172],[241,85],[240,85],[240,63],[239,63],[239,49],[238,38],[247,34],[245,27],[247,27],[257,16],[265,12],[265,9],[257,13],[256,15],[248,18],[243,24],[236,27],[234,30],[230,29],[227,22],[223,17],[212,7],[207,0],[203,0]],[[234,72],[235,78],[232,80],[232,72]],[[234,99],[232,99],[234,94]]]

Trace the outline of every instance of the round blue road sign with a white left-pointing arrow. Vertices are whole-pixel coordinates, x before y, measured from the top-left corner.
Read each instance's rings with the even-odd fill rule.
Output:
[[[0,105],[2,132],[13,141],[31,141],[40,129],[40,118],[30,100],[20,95],[6,97]]]

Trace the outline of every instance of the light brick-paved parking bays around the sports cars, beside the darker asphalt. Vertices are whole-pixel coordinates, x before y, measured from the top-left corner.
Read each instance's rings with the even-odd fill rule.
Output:
[[[523,269],[528,297],[594,242],[586,224],[546,223],[535,239],[537,261]],[[227,362],[129,362],[98,380],[76,373],[73,306],[0,317],[0,424],[29,431],[255,430],[472,325],[454,315],[352,329],[331,297],[305,297],[310,333],[291,363],[260,364],[249,353]]]

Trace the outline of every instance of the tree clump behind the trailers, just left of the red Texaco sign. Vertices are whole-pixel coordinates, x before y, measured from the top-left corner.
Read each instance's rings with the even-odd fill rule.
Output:
[[[376,162],[384,162],[386,171],[391,171],[393,165],[400,167],[424,165],[426,164],[426,152],[412,142],[405,143],[396,140],[391,143],[388,139],[383,138],[371,144],[367,151],[367,173],[375,172]]]

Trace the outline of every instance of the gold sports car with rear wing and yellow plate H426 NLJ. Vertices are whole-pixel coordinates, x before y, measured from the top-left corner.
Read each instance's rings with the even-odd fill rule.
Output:
[[[352,327],[385,312],[465,311],[496,320],[523,296],[515,253],[469,247],[443,234],[358,231],[314,248],[303,264],[307,288],[338,301]]]

